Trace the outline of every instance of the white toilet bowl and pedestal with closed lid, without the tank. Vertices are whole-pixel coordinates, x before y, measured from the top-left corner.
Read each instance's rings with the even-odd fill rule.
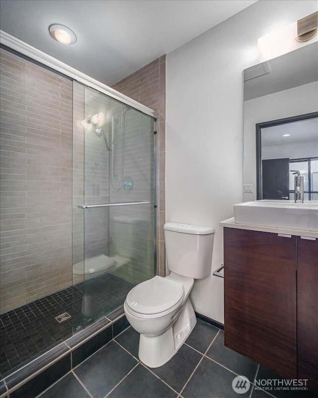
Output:
[[[124,303],[126,318],[140,335],[139,359],[158,368],[191,333],[196,317],[188,298],[194,280],[171,273],[133,288]]]

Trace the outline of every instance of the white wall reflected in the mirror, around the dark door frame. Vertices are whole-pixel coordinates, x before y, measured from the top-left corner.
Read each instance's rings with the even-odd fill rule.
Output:
[[[244,101],[244,184],[253,184],[254,186],[253,193],[244,193],[244,201],[256,199],[255,124],[316,112],[317,93],[318,82],[314,82]],[[313,147],[313,149],[315,149],[315,154],[312,156],[317,156],[317,148]]]

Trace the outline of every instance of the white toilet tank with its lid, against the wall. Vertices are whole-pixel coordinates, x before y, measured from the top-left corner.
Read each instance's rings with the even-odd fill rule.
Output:
[[[214,228],[167,222],[163,229],[168,269],[188,278],[208,277],[211,273]]]

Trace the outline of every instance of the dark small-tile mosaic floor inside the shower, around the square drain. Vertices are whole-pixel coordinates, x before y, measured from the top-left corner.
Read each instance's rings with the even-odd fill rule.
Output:
[[[122,305],[133,286],[104,274],[0,315],[0,379]],[[59,323],[64,312],[72,317]]]

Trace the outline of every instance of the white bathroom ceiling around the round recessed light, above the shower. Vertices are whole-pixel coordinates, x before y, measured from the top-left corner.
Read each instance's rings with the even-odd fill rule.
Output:
[[[1,30],[112,85],[256,0],[1,0]],[[49,25],[72,29],[70,46]]]

